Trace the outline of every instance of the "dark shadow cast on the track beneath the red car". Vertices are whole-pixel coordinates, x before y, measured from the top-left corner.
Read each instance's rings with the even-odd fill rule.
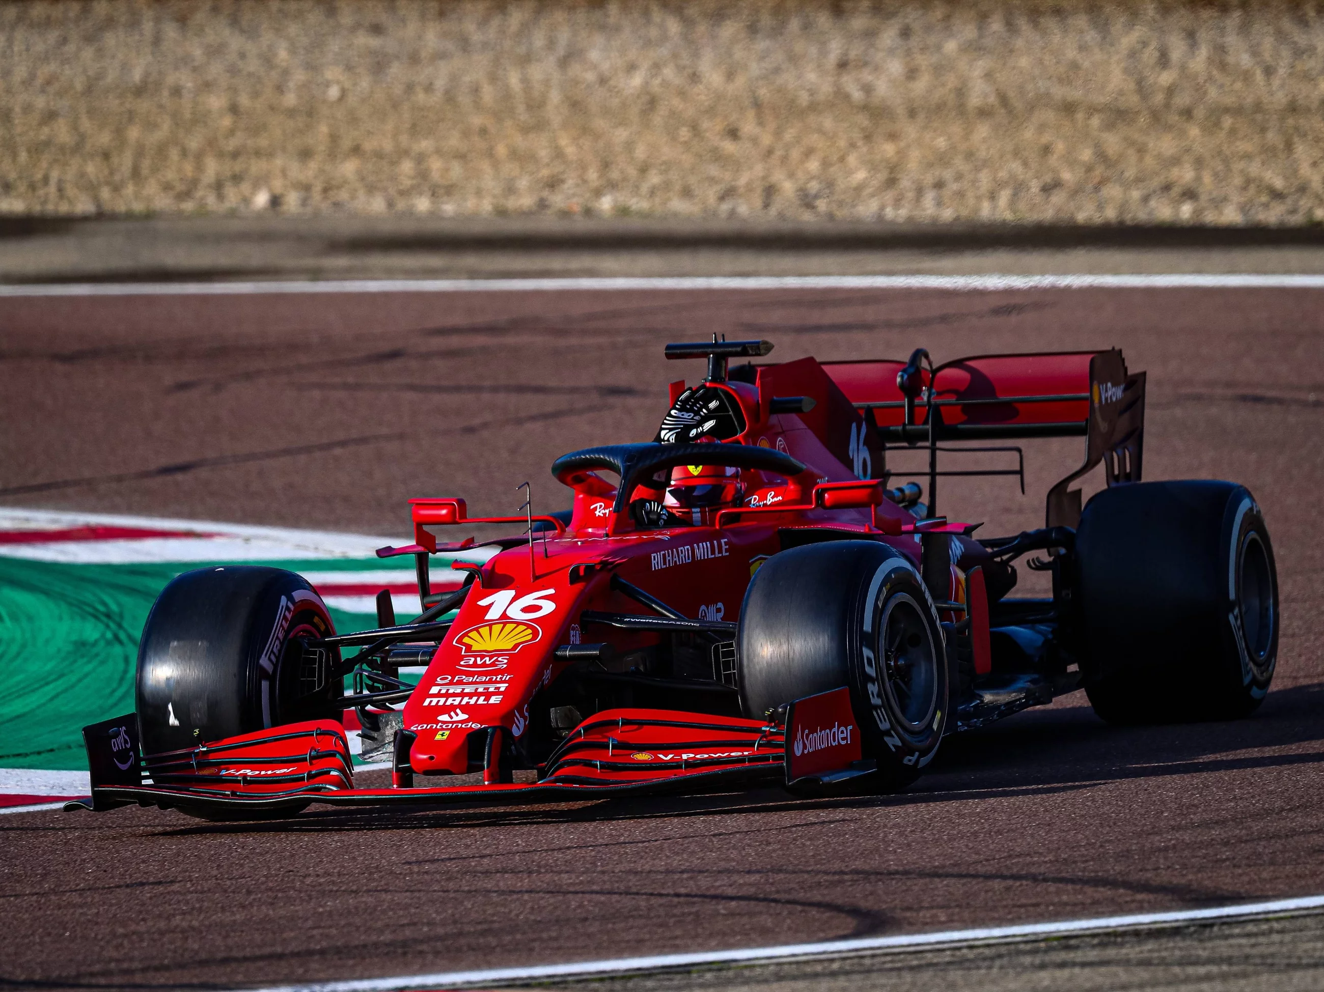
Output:
[[[792,798],[780,788],[683,796],[585,800],[493,809],[481,806],[393,807],[389,809],[314,808],[298,817],[266,823],[197,824],[160,831],[162,836],[338,831],[414,831],[441,827],[538,827],[549,823],[688,819],[760,812],[830,812],[854,808],[968,802],[1053,795],[1127,779],[1204,775],[1231,770],[1324,763],[1324,750],[1282,753],[1324,739],[1317,714],[1324,684],[1299,685],[1270,694],[1249,720],[1115,727],[1088,706],[1045,709],[1004,725],[948,738],[931,772],[907,792],[821,799]],[[1263,751],[1271,754],[1238,754]],[[1161,755],[1161,758],[1158,757]],[[812,824],[824,825],[824,820]],[[727,833],[759,833],[753,827]],[[706,832],[703,836],[714,836]],[[674,840],[674,839],[671,839]],[[630,844],[634,841],[621,841]],[[641,841],[653,843],[653,841]]]

